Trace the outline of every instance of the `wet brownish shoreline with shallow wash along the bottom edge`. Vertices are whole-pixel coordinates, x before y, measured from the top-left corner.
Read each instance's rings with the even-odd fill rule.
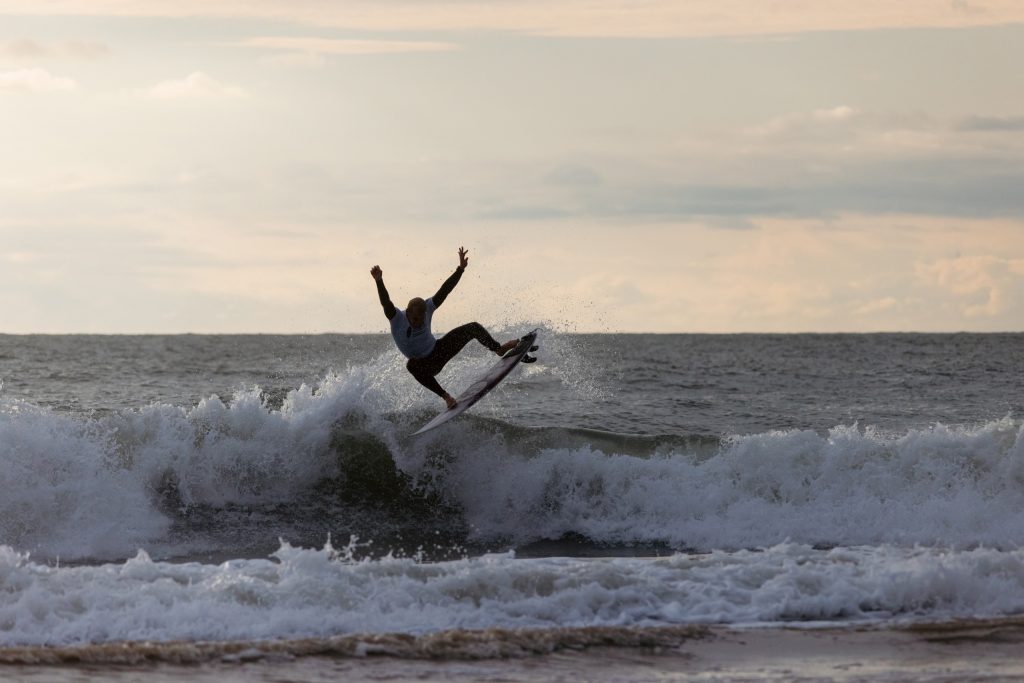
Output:
[[[1024,681],[1024,618],[821,628],[446,631],[234,643],[0,648],[5,680]]]

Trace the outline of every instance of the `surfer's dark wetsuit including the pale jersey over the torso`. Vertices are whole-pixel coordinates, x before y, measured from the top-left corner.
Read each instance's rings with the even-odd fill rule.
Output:
[[[423,325],[419,328],[414,328],[409,323],[404,310],[395,308],[394,304],[391,303],[391,297],[387,293],[387,288],[384,287],[384,279],[381,278],[377,281],[377,295],[380,297],[384,314],[391,321],[391,336],[398,350],[409,358],[406,369],[420,384],[442,398],[446,392],[434,378],[447,365],[447,361],[469,343],[469,340],[475,339],[492,351],[498,351],[501,346],[479,323],[467,323],[452,330],[440,339],[434,339],[430,332],[430,321],[434,310],[444,303],[444,299],[459,284],[464,270],[465,268],[462,266],[456,268],[455,272],[437,290],[437,293],[427,299],[426,316]]]

